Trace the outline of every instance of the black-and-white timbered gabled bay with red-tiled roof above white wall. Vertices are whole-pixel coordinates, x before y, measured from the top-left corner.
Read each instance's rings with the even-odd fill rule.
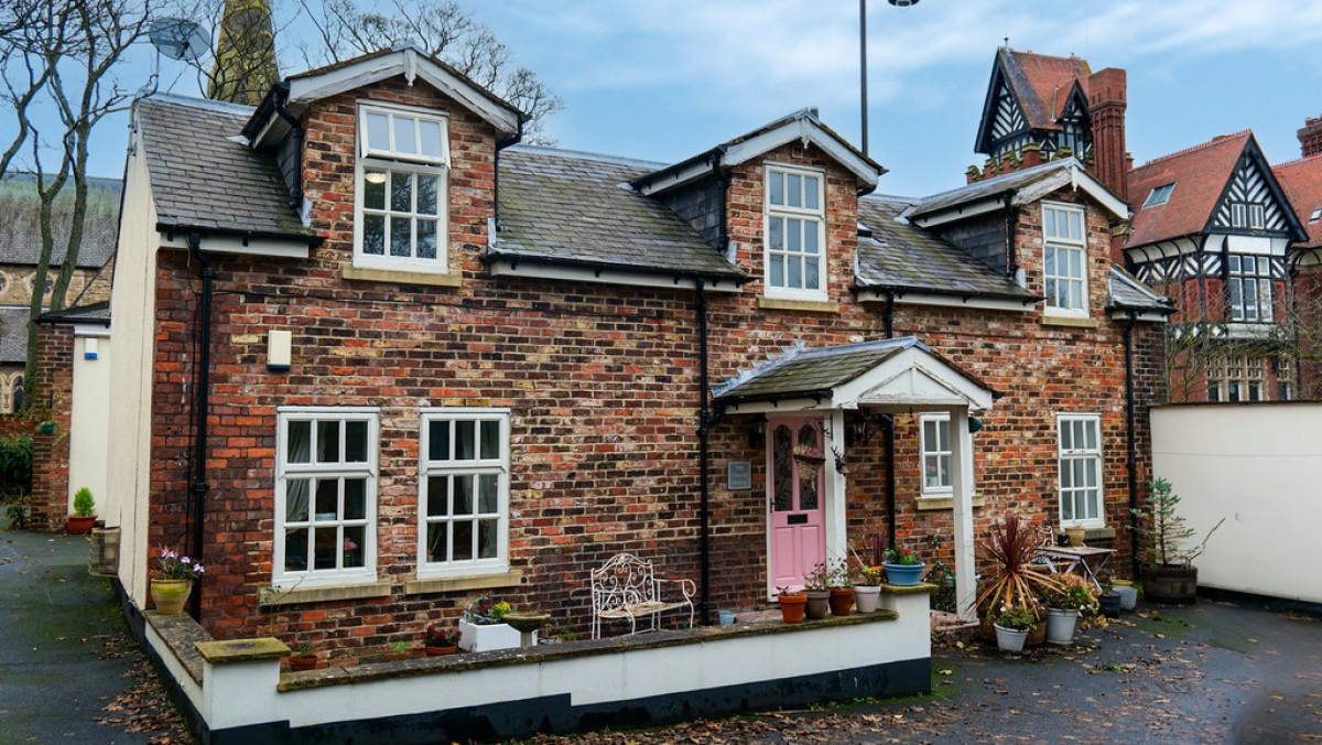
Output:
[[[1307,234],[1253,134],[1158,157],[1128,181],[1136,208],[1125,257],[1179,308],[1171,398],[1294,398],[1289,258]]]

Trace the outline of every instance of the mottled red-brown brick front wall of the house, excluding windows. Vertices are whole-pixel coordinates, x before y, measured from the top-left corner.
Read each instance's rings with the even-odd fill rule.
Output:
[[[406,595],[416,550],[419,416],[423,406],[512,409],[510,558],[525,580],[493,590],[516,605],[588,626],[587,570],[619,550],[656,558],[666,573],[698,577],[698,349],[693,292],[492,278],[479,258],[492,214],[493,131],[434,101],[424,86],[386,83],[366,93],[451,112],[451,267],[457,288],[341,279],[352,261],[353,103],[329,99],[308,112],[304,185],[325,243],[308,261],[214,259],[213,410],[205,560],[205,625],[221,638],[275,633],[336,647],[336,659],[416,643],[428,621],[456,617],[476,593]],[[763,361],[796,340],[812,347],[882,337],[880,306],[853,300],[857,210],[853,177],[813,148],[768,156],[826,172],[830,300],[839,312],[760,308],[759,281],[743,294],[714,292],[713,381]],[[730,233],[740,266],[761,273],[760,161],[734,169]],[[1060,195],[1059,198],[1072,198]],[[1019,221],[1019,255],[1040,267],[1040,228]],[[1125,494],[1120,324],[1103,314],[1107,225],[1089,208],[1096,329],[1046,327],[1039,312],[896,311],[899,333],[916,333],[957,365],[1007,393],[978,435],[977,476],[988,505],[978,524],[1007,508],[1055,520],[1059,406],[1104,416],[1108,503]],[[1036,246],[1036,247],[1034,247]],[[1032,258],[1036,257],[1036,258]],[[197,267],[163,254],[153,393],[152,544],[181,544],[188,483],[189,401],[196,352]],[[1032,279],[1040,286],[1040,279]],[[264,333],[290,329],[293,365],[266,369]],[[1141,327],[1145,328],[1146,327]],[[1146,331],[1145,331],[1146,332]],[[378,569],[389,598],[256,606],[270,584],[276,406],[379,406]],[[747,445],[747,417],[713,431],[713,601],[747,607],[764,598],[763,450]],[[851,453],[850,529],[855,544],[884,531],[883,438]],[[906,540],[949,535],[949,515],[912,509],[916,439],[900,417],[899,528]],[[754,463],[755,488],[724,488],[730,459]],[[857,463],[857,466],[853,466]],[[1118,504],[1118,503],[1117,503]],[[1121,507],[1110,521],[1124,524]],[[854,535],[854,533],[851,533]],[[948,541],[943,544],[943,550]]]

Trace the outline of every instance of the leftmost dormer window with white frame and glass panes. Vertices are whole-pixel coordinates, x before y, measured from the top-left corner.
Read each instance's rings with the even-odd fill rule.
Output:
[[[448,122],[430,111],[358,107],[353,263],[447,273]]]

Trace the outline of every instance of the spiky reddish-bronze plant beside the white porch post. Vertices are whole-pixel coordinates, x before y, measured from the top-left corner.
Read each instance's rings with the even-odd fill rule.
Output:
[[[1038,556],[1038,545],[1034,531],[1014,513],[993,523],[988,537],[978,543],[988,572],[981,582],[977,606],[984,609],[984,619],[989,626],[994,621],[990,618],[994,615],[990,609],[1031,609],[1034,617],[1038,617],[1038,595],[1056,584],[1055,576],[1032,561]],[[992,635],[989,626],[984,626],[988,638]],[[1046,625],[1040,633],[1046,634]],[[1035,633],[1035,640],[1030,639],[1030,644],[1040,643],[1042,636]]]

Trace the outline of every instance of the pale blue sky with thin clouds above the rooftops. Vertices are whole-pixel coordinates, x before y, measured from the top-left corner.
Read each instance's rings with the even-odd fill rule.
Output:
[[[292,3],[292,0],[284,0]],[[854,0],[461,0],[566,107],[561,147],[674,161],[817,106],[859,135]],[[297,32],[295,25],[292,32]],[[929,195],[981,163],[973,136],[995,48],[1077,54],[1129,71],[1137,163],[1252,128],[1272,163],[1322,115],[1322,3],[1270,0],[869,0],[870,151],[879,192]],[[141,85],[149,56],[123,81]],[[297,54],[287,54],[291,60]],[[168,62],[168,61],[167,61]],[[297,71],[290,67],[282,71]],[[168,83],[177,70],[163,65]],[[189,77],[175,93],[196,94]],[[119,176],[124,119],[99,132],[94,175]],[[12,131],[8,120],[0,134]]]

